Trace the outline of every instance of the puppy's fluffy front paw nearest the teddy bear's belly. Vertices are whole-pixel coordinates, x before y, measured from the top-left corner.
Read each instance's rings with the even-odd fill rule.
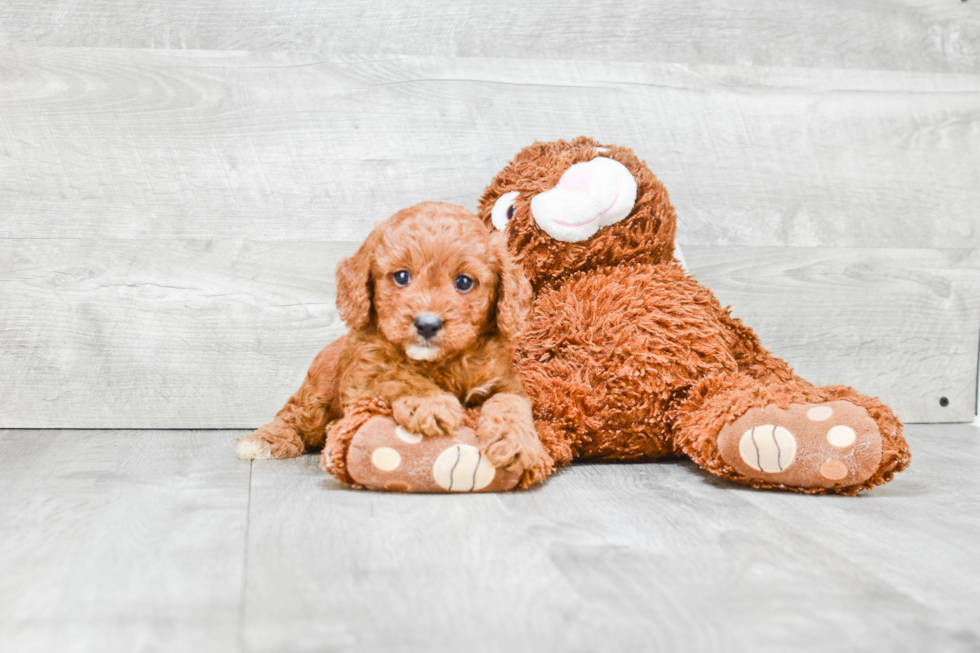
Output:
[[[541,461],[541,440],[527,397],[501,392],[487,399],[476,435],[494,467],[523,472]]]

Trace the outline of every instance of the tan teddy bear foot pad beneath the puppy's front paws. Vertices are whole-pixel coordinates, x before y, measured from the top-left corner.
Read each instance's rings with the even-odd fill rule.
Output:
[[[500,492],[520,480],[516,472],[494,468],[472,429],[424,437],[381,416],[351,438],[347,471],[358,485],[392,492]]]

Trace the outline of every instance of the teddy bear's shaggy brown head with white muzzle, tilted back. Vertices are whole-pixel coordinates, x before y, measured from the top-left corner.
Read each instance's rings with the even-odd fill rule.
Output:
[[[580,270],[674,255],[677,218],[663,184],[633,150],[585,136],[518,152],[479,213],[507,234],[535,290]]]

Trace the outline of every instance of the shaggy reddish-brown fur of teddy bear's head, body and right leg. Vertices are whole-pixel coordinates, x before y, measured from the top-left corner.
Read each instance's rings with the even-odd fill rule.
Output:
[[[535,222],[532,199],[555,188],[570,166],[599,156],[618,161],[636,179],[632,212],[580,242],[552,238]],[[555,465],[684,454],[738,483],[841,494],[887,482],[908,465],[901,424],[887,406],[843,386],[815,388],[794,375],[680,267],[673,258],[674,209],[632,150],[584,137],[525,148],[483,194],[479,213],[488,225],[495,203],[510,192],[519,195],[504,233],[535,292],[515,360]],[[872,427],[867,435],[873,440],[868,446],[877,451],[880,444],[882,452],[867,478],[818,487],[827,485],[826,477],[811,474],[792,485],[774,481],[778,474],[740,474],[722,459],[719,433],[750,410],[800,404],[796,421],[786,423],[799,430],[799,415],[834,400],[863,407],[880,431]],[[822,406],[813,414],[829,410]],[[868,457],[862,460],[866,465]]]

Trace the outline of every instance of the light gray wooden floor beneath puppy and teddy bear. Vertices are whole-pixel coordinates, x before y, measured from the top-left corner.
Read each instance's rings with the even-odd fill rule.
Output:
[[[972,426],[853,499],[681,461],[374,494],[238,434],[0,431],[0,650],[980,650]]]

